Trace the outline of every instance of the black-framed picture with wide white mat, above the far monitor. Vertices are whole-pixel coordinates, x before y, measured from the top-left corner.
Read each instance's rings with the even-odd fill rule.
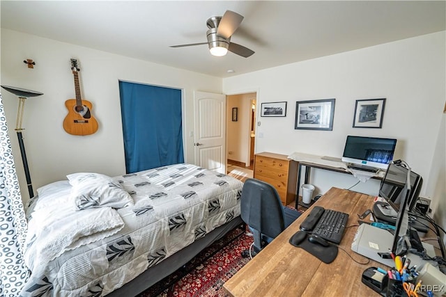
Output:
[[[353,128],[380,128],[383,126],[385,98],[356,100]]]

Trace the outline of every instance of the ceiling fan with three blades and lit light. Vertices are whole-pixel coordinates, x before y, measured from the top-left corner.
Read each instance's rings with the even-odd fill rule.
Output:
[[[187,45],[171,45],[170,47],[191,47],[194,45],[208,45],[210,54],[213,56],[224,56],[228,51],[243,56],[245,58],[252,56],[254,51],[231,42],[231,36],[238,29],[243,21],[243,16],[226,10],[223,17],[210,17],[206,22],[208,31],[206,32],[208,42],[190,43]]]

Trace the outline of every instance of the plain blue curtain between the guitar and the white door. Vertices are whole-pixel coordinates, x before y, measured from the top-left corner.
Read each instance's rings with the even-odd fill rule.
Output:
[[[181,90],[119,82],[127,173],[183,163]]]

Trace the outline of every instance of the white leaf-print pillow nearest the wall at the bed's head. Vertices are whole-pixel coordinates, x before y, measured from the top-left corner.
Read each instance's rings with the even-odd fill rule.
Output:
[[[112,177],[100,173],[79,172],[67,175],[72,186],[71,195],[77,209],[113,207],[115,209],[133,205],[130,194]]]

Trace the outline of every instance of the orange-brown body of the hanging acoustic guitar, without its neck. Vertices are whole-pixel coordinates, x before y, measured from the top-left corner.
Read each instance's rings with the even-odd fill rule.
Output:
[[[72,135],[90,135],[98,131],[98,121],[91,114],[93,105],[87,100],[82,100],[82,108],[77,105],[77,99],[68,99],[65,102],[68,115],[63,120],[63,129]]]

